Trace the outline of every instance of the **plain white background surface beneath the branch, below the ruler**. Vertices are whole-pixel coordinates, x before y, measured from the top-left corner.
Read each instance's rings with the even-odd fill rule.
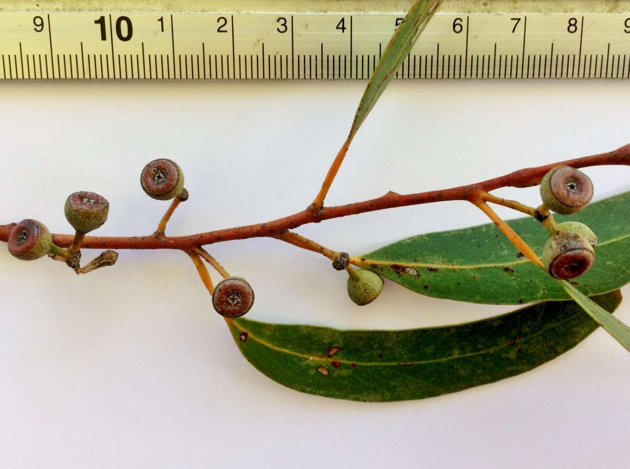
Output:
[[[181,164],[191,195],[170,234],[298,212],[316,194],[364,86],[3,82],[0,222],[37,218],[69,232],[64,200],[83,189],[110,200],[100,234],[149,234],[168,205],[140,189],[140,170],[156,157]],[[629,87],[393,82],[327,202],[445,188],[616,149],[630,142]],[[587,172],[596,198],[630,188],[626,167]],[[536,188],[498,193],[538,201]],[[361,254],[484,222],[473,206],[449,202],[297,231]],[[318,254],[269,239],[210,248],[255,287],[253,319],[396,329],[513,309],[421,297],[389,281],[359,308],[345,274]],[[298,393],[252,368],[180,252],[123,251],[115,267],[75,276],[47,259],[16,261],[3,248],[0,298],[0,467],[593,468],[627,460],[630,356],[601,330],[515,378],[362,404]],[[630,322],[627,303],[618,315]]]

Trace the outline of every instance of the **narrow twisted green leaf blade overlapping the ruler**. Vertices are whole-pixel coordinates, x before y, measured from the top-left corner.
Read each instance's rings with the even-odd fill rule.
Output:
[[[396,28],[396,32],[387,44],[358,105],[357,114],[350,129],[350,137],[348,137],[350,140],[387,88],[387,84],[396,76],[396,71],[403,64],[403,60],[407,58],[439,4],[440,0],[416,1],[404,17],[403,23]]]

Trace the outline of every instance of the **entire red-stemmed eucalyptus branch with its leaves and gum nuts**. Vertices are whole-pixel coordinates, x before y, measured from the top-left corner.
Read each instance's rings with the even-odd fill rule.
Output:
[[[396,28],[391,42],[387,45],[360,100],[347,139],[336,155],[333,164],[329,167],[318,195],[312,204],[301,212],[265,223],[167,237],[165,231],[169,220],[180,203],[188,200],[188,191],[184,188],[184,175],[181,167],[169,159],[156,159],[149,162],[142,170],[140,176],[142,189],[151,198],[171,201],[171,203],[153,234],[133,237],[86,235],[105,223],[109,203],[98,194],[81,191],[69,196],[65,207],[66,218],[75,229],[74,235],[51,235],[43,223],[25,219],[19,223],[0,225],[0,240],[8,242],[9,252],[18,259],[30,261],[48,255],[57,260],[65,260],[77,273],[88,273],[94,269],[114,264],[118,254],[111,249],[181,250],[192,259],[203,285],[212,295],[214,309],[226,319],[239,348],[248,356],[251,363],[270,376],[276,376],[280,382],[287,383],[286,381],[289,380],[290,383],[298,383],[293,386],[295,388],[300,388],[306,392],[330,395],[331,397],[357,400],[397,400],[401,397],[407,398],[408,395],[428,397],[428,395],[435,395],[436,393],[453,392],[472,385],[482,384],[483,381],[479,381],[480,377],[483,377],[484,380],[501,379],[501,377],[509,376],[510,373],[519,373],[534,368],[561,353],[564,349],[574,346],[577,343],[575,341],[580,341],[585,337],[584,334],[592,331],[593,323],[590,318],[602,325],[630,351],[630,327],[622,324],[612,317],[606,309],[585,296],[585,293],[600,294],[613,291],[627,283],[627,276],[616,275],[613,280],[609,281],[607,279],[602,281],[599,279],[588,280],[588,283],[585,282],[580,286],[581,289],[585,290],[585,293],[577,290],[574,282],[567,283],[565,280],[575,279],[587,273],[591,268],[595,261],[595,249],[593,247],[598,240],[587,224],[575,220],[556,223],[551,214],[551,212],[555,212],[561,215],[570,215],[586,208],[592,200],[593,184],[588,176],[578,171],[577,168],[603,165],[629,166],[630,144],[612,152],[520,169],[475,184],[407,195],[389,191],[385,195],[371,200],[340,206],[324,206],[324,199],[359,127],[403,60],[409,56],[411,47],[432,18],[439,4],[440,0],[418,0],[411,6],[403,23],[400,25],[397,23],[398,28]],[[542,205],[537,208],[491,194],[496,189],[508,186],[526,188],[537,185],[541,186],[542,200]],[[333,218],[401,206],[454,200],[467,201],[484,212],[518,249],[516,258],[513,257],[512,249],[501,240],[503,242],[501,252],[492,252],[487,263],[479,262],[478,252],[488,254],[488,246],[492,249],[499,246],[499,242],[495,242],[494,239],[486,240],[486,243],[477,240],[471,249],[475,252],[474,255],[468,257],[462,255],[462,251],[469,250],[471,241],[476,239],[478,233],[486,232],[486,227],[481,227],[477,231],[475,231],[476,229],[464,230],[466,237],[459,237],[458,247],[455,247],[453,242],[458,237],[457,232],[449,232],[405,239],[366,254],[365,257],[350,257],[347,252],[333,251],[314,240],[291,231],[307,223],[319,223]],[[489,203],[512,208],[536,219],[546,228],[549,235],[544,245],[534,244],[538,241],[532,230],[522,231],[523,237],[518,235],[510,225],[516,227],[521,221],[516,220],[508,225],[488,205]],[[600,203],[600,207],[605,207],[605,203],[610,203],[610,200]],[[617,212],[627,210],[627,202],[625,208],[620,208],[619,200],[615,203],[618,204],[616,206]],[[626,215],[626,218],[627,216],[629,215]],[[585,218],[583,221],[587,221],[587,219]],[[605,222],[610,224],[610,219],[605,218]],[[533,223],[529,224],[532,225]],[[521,224],[518,231],[521,232],[523,228],[524,225]],[[540,229],[535,226],[534,228]],[[623,237],[619,237],[618,232],[614,234],[616,237],[612,241],[609,239],[608,244],[623,239]],[[442,239],[438,239],[437,235],[442,235]],[[492,238],[494,235],[495,233],[492,234]],[[327,257],[333,261],[333,268],[338,271],[344,269],[347,271],[348,297],[360,306],[371,303],[380,295],[384,285],[384,277],[418,293],[441,298],[473,302],[485,301],[486,303],[497,304],[501,302],[517,304],[526,302],[525,300],[532,302],[542,299],[566,299],[566,296],[554,297],[553,295],[557,295],[557,293],[549,290],[546,286],[546,283],[551,280],[552,286],[557,290],[558,284],[555,280],[558,280],[561,281],[566,295],[573,298],[576,305],[582,308],[587,315],[583,315],[585,317],[579,319],[578,314],[571,312],[571,308],[577,307],[573,303],[560,307],[550,307],[559,310],[559,312],[566,310],[564,313],[568,314],[567,319],[557,320],[555,319],[556,314],[542,314],[544,313],[543,309],[546,308],[546,305],[542,303],[529,308],[529,311],[534,311],[532,318],[523,318],[520,316],[520,312],[516,312],[509,317],[505,315],[499,320],[490,319],[484,324],[476,322],[469,325],[449,326],[443,328],[444,331],[435,329],[396,331],[391,337],[388,337],[389,334],[375,333],[375,331],[336,331],[331,333],[326,328],[308,326],[299,326],[296,332],[295,327],[291,325],[276,327],[277,325],[273,324],[252,322],[246,319],[239,320],[252,307],[255,299],[254,290],[244,278],[231,276],[209,252],[203,249],[203,246],[255,237],[273,237]],[[536,249],[542,248],[542,258],[523,238],[531,239],[532,246]],[[433,243],[433,240],[437,240],[437,242]],[[492,245],[490,241],[495,242],[495,244]],[[441,254],[435,249],[439,244],[443,245]],[[64,249],[68,247],[69,249]],[[108,249],[108,251],[103,252],[86,264],[84,268],[81,268],[79,264],[81,248]],[[457,249],[461,249],[461,251],[456,253]],[[605,254],[605,249],[602,252]],[[520,259],[520,257],[526,257],[536,267],[532,267],[527,260]],[[204,260],[223,277],[216,285],[212,282]],[[350,264],[360,268],[355,269]],[[609,257],[609,259],[605,259],[605,265],[609,266],[610,264],[614,264],[614,262]],[[624,263],[624,267],[626,265],[627,262]],[[538,267],[544,269],[549,275],[541,275]],[[625,270],[621,270],[625,272]],[[478,285],[481,284],[481,281],[486,282],[485,285],[492,283],[492,288],[479,288]],[[495,283],[496,285],[494,285]],[[593,283],[597,284],[595,291],[593,291]],[[506,296],[505,290],[510,290],[514,285],[518,285],[518,291],[516,293],[508,291]],[[534,286],[532,287],[532,285]],[[579,285],[579,283],[575,282],[575,285]],[[434,290],[440,288],[442,288],[441,292],[433,293]],[[596,300],[605,305],[609,311],[612,311],[619,304],[621,298],[619,295],[609,293],[596,298]],[[528,315],[527,311],[522,310],[525,315]],[[514,317],[513,315],[518,316],[516,322],[510,319]],[[588,321],[576,324],[574,322],[576,319]],[[554,322],[550,323],[549,321]],[[569,324],[568,321],[571,323]],[[519,329],[518,325],[522,327]],[[563,327],[565,329],[561,329]],[[554,331],[554,329],[558,329],[558,331]],[[478,341],[479,337],[486,335],[486,331],[492,331],[489,335],[500,337],[501,340],[499,342],[471,343],[471,337],[474,341]],[[544,337],[542,334],[546,334],[546,332],[550,332],[551,336]],[[515,344],[521,341],[521,336],[522,342],[530,341],[529,344],[522,345],[524,348],[529,348],[524,354],[528,357],[525,359],[517,359],[521,346],[517,348]],[[576,337],[573,338],[573,336]],[[400,340],[401,337],[404,341]],[[423,339],[419,340],[418,337],[423,337]],[[441,337],[448,337],[448,340],[443,340]],[[512,339],[512,337],[515,338]],[[559,339],[563,339],[563,344],[559,344]],[[328,343],[333,340],[335,342]],[[452,343],[455,344],[455,349],[447,351],[440,358],[440,356],[435,355],[433,346],[427,346],[436,340],[435,348],[446,349],[449,347],[448,344]],[[275,345],[274,343],[278,343],[278,341],[281,343]],[[549,348],[547,341],[553,342],[553,347]],[[245,343],[246,346],[243,346]],[[306,348],[304,348],[304,344],[307,344]],[[424,352],[418,354],[417,344],[424,344],[423,349],[431,350],[429,355],[423,356]],[[460,344],[464,345],[460,348]],[[495,370],[480,368],[488,361],[487,358],[482,357],[479,360],[478,357],[484,353],[484,346],[486,346],[486,351],[500,359],[502,364],[507,364],[503,374],[495,373]],[[512,347],[512,351],[506,350],[508,347]],[[343,348],[347,348],[347,351],[341,352]],[[382,353],[375,354],[375,351],[381,351],[381,349]],[[474,350],[475,352],[462,354],[461,350]],[[327,356],[324,355],[326,351]],[[337,353],[341,353],[341,356],[336,356]],[[393,355],[384,358],[384,354],[390,353]],[[401,353],[403,356],[399,356]],[[536,354],[539,355],[537,358],[535,357]],[[290,355],[290,359],[282,358],[286,355]],[[333,356],[335,356],[334,359]],[[461,359],[466,362],[458,361]],[[433,368],[437,361],[440,361],[439,366]],[[334,370],[340,366],[348,368],[344,370],[344,373],[336,376]],[[357,373],[355,370],[357,366],[361,370],[358,373],[367,374],[358,375],[353,380],[344,380],[345,377],[350,376],[348,373]],[[433,369],[432,372],[439,373],[440,377],[442,375],[457,377],[457,380],[450,379],[452,383],[445,385],[444,390],[440,390],[438,380],[427,380],[424,376],[416,376],[416,373],[427,366]],[[452,367],[451,371],[448,370],[449,366]],[[467,371],[466,366],[468,367]],[[374,372],[374,370],[377,370],[377,375],[373,375],[373,381],[370,381],[369,373]],[[305,373],[304,371],[308,372]],[[328,378],[326,378],[327,376]],[[415,378],[420,379],[413,381]],[[322,379],[329,381],[326,383]],[[335,379],[336,381],[331,381]],[[380,380],[385,380],[387,383],[384,397],[369,390],[370,382],[375,383]],[[301,381],[303,381],[304,386],[299,385]],[[467,383],[463,381],[467,381]],[[366,385],[366,383],[368,384]],[[401,394],[392,393],[392,388],[396,387],[396,384],[392,387],[392,383],[408,383],[410,388]],[[427,387],[427,383],[430,383],[430,386]],[[428,390],[429,388],[430,390]],[[366,390],[367,393],[365,393]]]

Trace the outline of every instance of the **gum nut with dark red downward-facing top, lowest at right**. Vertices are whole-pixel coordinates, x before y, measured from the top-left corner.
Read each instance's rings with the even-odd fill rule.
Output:
[[[550,236],[542,250],[542,263],[555,278],[576,278],[588,271],[593,262],[595,251],[589,240],[570,231]]]

